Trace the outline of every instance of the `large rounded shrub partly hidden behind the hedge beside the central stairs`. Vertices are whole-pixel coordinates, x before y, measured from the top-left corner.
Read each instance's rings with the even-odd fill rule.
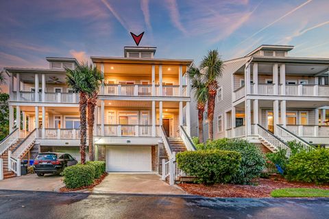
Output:
[[[241,153],[241,165],[239,170],[232,176],[230,183],[248,184],[252,179],[260,177],[262,170],[265,168],[263,153],[257,146],[246,140],[221,138],[208,142],[204,149],[219,149]]]

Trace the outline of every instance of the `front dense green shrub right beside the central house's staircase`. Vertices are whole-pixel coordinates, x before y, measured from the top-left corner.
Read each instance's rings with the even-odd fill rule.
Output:
[[[177,164],[198,183],[228,183],[239,169],[241,155],[235,151],[185,151],[176,155]]]

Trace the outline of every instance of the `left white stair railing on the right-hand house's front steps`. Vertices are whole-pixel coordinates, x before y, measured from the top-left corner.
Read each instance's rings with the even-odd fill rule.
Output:
[[[265,141],[266,143],[270,144],[273,149],[275,150],[286,150],[287,155],[291,155],[291,150],[289,149],[289,146],[287,146],[286,143],[282,142],[278,137],[274,136],[271,132],[269,132],[267,129],[262,127],[261,125],[257,125],[257,133],[258,136]]]

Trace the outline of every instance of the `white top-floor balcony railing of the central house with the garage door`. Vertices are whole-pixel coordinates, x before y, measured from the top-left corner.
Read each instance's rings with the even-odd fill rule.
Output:
[[[152,95],[151,84],[105,84],[104,95],[110,96],[187,96],[186,86],[182,86],[182,94],[180,94],[180,86],[155,86],[155,94]],[[100,92],[101,93],[101,92]]]

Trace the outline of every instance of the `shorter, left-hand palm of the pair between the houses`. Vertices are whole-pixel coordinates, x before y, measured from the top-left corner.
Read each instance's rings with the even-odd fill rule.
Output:
[[[197,118],[199,120],[199,142],[204,141],[204,110],[206,108],[207,98],[208,98],[208,89],[206,84],[203,81],[202,73],[199,68],[192,66],[188,70],[188,76],[191,78],[192,89],[194,90],[194,97],[197,101]]]

